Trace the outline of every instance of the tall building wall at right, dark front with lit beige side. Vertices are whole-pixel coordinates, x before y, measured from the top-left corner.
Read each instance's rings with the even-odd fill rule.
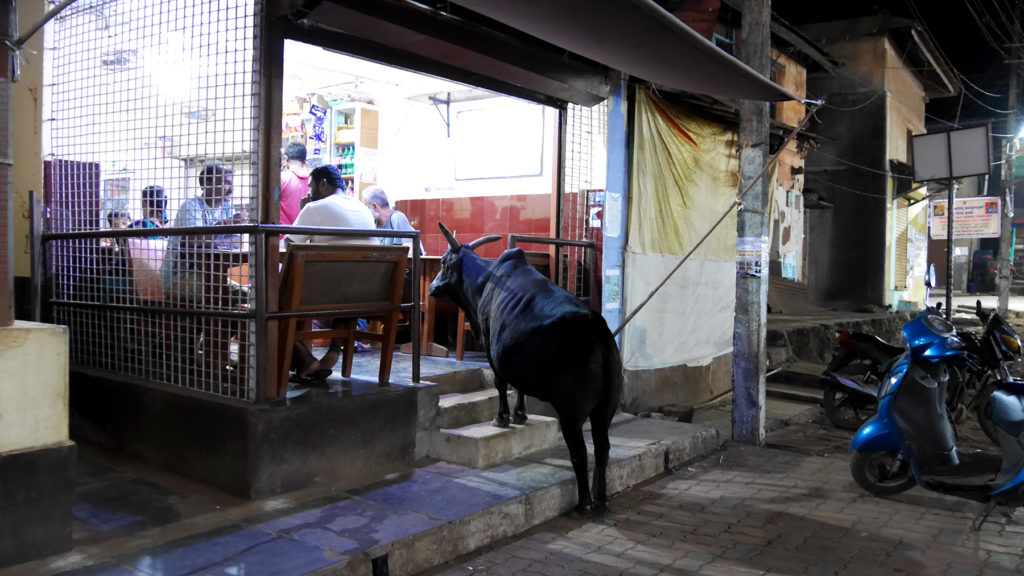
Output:
[[[809,217],[808,289],[819,304],[891,305],[906,295],[893,290],[906,277],[908,262],[895,261],[895,242],[905,239],[905,231],[895,230],[893,182],[884,172],[890,160],[909,162],[910,135],[925,131],[924,89],[884,36],[826,49],[843,63],[844,74],[810,81],[811,91],[824,94],[829,105],[812,131],[825,136],[819,141],[822,152],[846,162],[822,155],[808,161],[808,173],[822,181],[809,179],[807,188],[835,204]],[[911,293],[923,298],[923,290]]]

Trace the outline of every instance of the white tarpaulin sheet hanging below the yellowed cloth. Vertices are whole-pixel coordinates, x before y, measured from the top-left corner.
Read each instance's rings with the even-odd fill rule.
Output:
[[[626,301],[639,302],[682,258],[626,252]],[[623,333],[623,364],[648,370],[698,366],[732,352],[733,260],[690,258]]]

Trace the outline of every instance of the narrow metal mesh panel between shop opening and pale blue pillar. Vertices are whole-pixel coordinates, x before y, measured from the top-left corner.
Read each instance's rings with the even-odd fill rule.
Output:
[[[588,230],[588,197],[595,183],[603,186],[604,150],[607,146],[607,101],[587,108],[569,105],[565,112],[564,195],[561,206],[561,238],[594,240]],[[592,294],[592,275],[584,248],[562,252],[559,284],[578,297]]]

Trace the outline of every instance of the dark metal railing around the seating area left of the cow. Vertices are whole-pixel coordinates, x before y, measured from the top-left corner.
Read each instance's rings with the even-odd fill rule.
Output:
[[[212,394],[249,402],[267,398],[276,386],[276,372],[269,358],[278,357],[271,348],[268,323],[275,320],[278,254],[271,247],[283,234],[343,238],[401,238],[420,243],[420,233],[386,230],[346,230],[274,224],[238,224],[193,228],[122,229],[83,232],[42,233],[39,225],[38,199],[34,198],[33,266],[37,274],[34,310],[37,321],[66,324],[71,329],[72,368],[106,376],[160,382],[194,392]],[[220,297],[225,290],[217,282],[207,281],[206,289],[214,297],[199,300],[174,297],[170,293],[143,293],[142,275],[135,270],[132,249],[163,249],[160,254],[142,255],[163,260],[175,246],[175,239],[211,237],[224,239],[211,254],[230,254],[222,264],[234,271],[236,286],[226,290],[239,298]],[[156,242],[154,242],[156,241]],[[167,242],[163,248],[160,242]],[[105,243],[105,244],[104,244]],[[172,245],[173,244],[173,245]],[[140,246],[142,248],[140,248]],[[75,274],[54,274],[54,254],[65,265],[75,265]],[[129,260],[127,263],[118,259]],[[111,263],[111,262],[114,263]],[[248,265],[249,263],[255,265]],[[118,265],[124,265],[118,270]],[[244,271],[248,268],[248,272]],[[413,343],[412,380],[420,381],[420,265],[419,250],[411,250],[411,303],[402,310],[411,315]],[[113,270],[113,272],[112,272]],[[150,280],[157,272],[145,271]],[[166,289],[163,265],[160,287]],[[245,275],[243,278],[241,275]],[[224,274],[228,278],[229,274]],[[71,280],[69,280],[71,278]],[[245,288],[249,288],[246,290]],[[272,288],[272,289],[271,289]],[[232,292],[233,293],[233,292]],[[330,317],[331,312],[317,313]],[[351,312],[351,311],[348,311]],[[180,339],[184,344],[172,344]],[[195,341],[193,341],[195,340]],[[216,340],[216,342],[211,342]],[[227,366],[224,370],[211,351],[227,342]],[[195,354],[194,354],[195,353]],[[204,357],[204,354],[210,355]],[[196,357],[202,357],[197,360]],[[232,360],[233,359],[233,360]]]

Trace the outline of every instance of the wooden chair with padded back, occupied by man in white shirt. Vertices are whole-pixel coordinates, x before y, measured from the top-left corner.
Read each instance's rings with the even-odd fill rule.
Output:
[[[408,255],[404,246],[288,247],[281,271],[281,305],[274,315],[282,318],[278,397],[288,389],[294,343],[300,341],[308,346],[314,338],[344,340],[341,373],[346,378],[352,373],[356,339],[381,342],[378,383],[388,384]],[[342,320],[342,326],[315,329],[308,313],[319,313],[315,318],[324,321]],[[359,318],[381,322],[381,332],[357,330],[355,321]]]

